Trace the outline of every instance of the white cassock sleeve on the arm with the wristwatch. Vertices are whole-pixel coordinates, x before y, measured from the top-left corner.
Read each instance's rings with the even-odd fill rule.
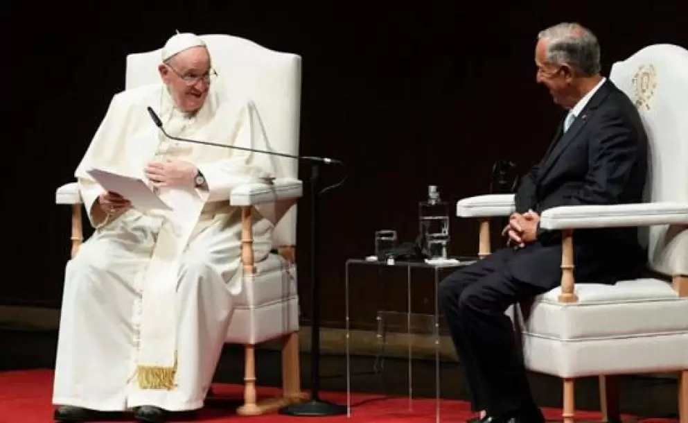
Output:
[[[265,135],[253,124],[253,107],[247,103],[240,112],[238,128],[228,144],[257,150],[269,150]],[[274,178],[274,157],[245,150],[229,150],[228,159],[200,164],[208,191],[206,202],[229,200],[232,189],[243,184],[267,182]]]

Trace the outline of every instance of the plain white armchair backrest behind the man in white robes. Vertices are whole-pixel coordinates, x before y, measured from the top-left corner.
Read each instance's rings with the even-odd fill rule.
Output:
[[[299,154],[301,119],[301,56],[267,49],[231,35],[201,35],[218,73],[218,82],[230,95],[254,103],[254,128],[264,130],[270,149]],[[127,89],[157,83],[161,51],[127,55]],[[299,177],[297,160],[275,157],[278,178]],[[296,205],[281,216],[274,247],[296,244]]]

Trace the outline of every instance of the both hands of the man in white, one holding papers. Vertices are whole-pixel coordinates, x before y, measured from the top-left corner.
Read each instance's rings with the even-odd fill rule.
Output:
[[[143,170],[152,186],[157,188],[193,187],[198,169],[183,160],[150,162]],[[98,197],[98,205],[107,214],[122,212],[131,207],[131,202],[118,193],[105,192]]]

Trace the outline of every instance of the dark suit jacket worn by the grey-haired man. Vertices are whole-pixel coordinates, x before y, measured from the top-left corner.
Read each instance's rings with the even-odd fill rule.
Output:
[[[563,124],[540,164],[524,176],[516,211],[567,205],[642,202],[648,140],[640,114],[626,94],[607,80],[565,134]],[[558,231],[538,230],[544,244],[561,242]],[[619,257],[642,257],[637,228],[574,231],[574,245]],[[606,254],[605,254],[606,255]],[[600,257],[602,259],[602,257]]]

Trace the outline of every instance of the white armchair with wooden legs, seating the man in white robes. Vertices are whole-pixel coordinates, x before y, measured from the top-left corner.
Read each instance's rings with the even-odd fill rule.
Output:
[[[266,49],[249,40],[229,35],[204,35],[220,81],[232,94],[252,99],[254,125],[265,135],[270,149],[299,153],[301,110],[301,57]],[[160,52],[127,55],[126,88],[159,81]],[[211,140],[210,140],[211,141]],[[297,295],[296,245],[297,198],[302,184],[296,160],[275,157],[274,184],[247,184],[230,194],[232,205],[242,208],[242,267],[244,284],[235,299],[227,343],[245,347],[244,404],[241,415],[258,415],[299,402],[305,397],[299,381],[299,298]],[[71,205],[71,255],[82,243],[82,201],[76,182],[56,192],[58,205]],[[278,223],[273,247],[279,254],[254,263],[251,214],[254,205],[274,205]],[[283,338],[283,392],[277,399],[256,402],[255,345]]]

